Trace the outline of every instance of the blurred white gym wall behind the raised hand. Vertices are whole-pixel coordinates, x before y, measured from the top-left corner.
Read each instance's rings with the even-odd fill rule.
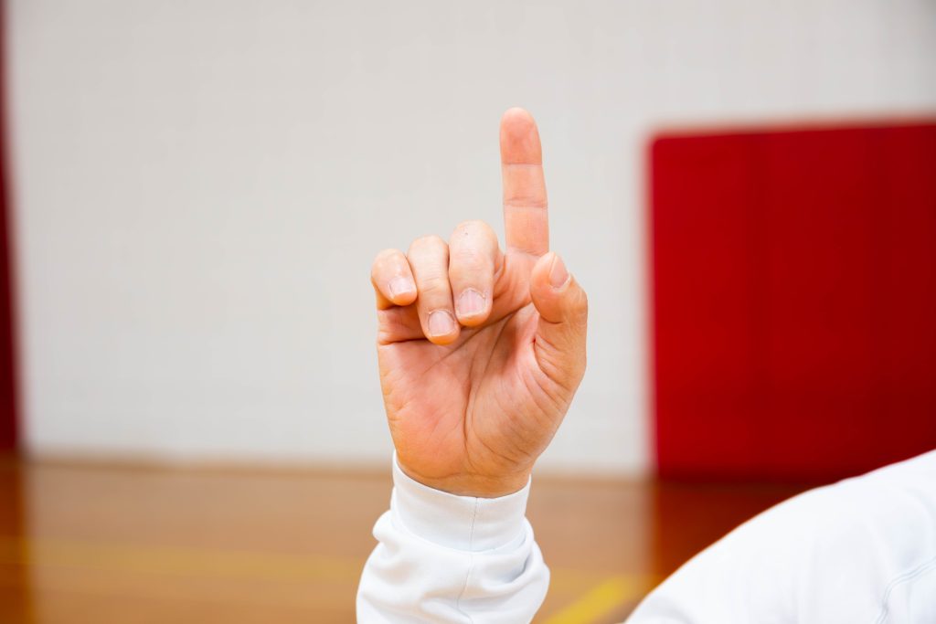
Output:
[[[654,128],[936,110],[929,0],[7,10],[37,453],[385,461],[371,258],[501,227],[497,123],[520,105],[553,247],[592,301],[590,370],[544,462],[639,472]]]

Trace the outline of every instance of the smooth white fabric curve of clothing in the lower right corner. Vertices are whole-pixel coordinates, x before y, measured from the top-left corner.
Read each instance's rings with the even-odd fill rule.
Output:
[[[936,451],[755,517],[670,576],[628,620],[709,622],[936,622]]]

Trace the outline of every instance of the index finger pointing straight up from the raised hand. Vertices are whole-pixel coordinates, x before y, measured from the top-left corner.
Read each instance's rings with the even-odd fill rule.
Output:
[[[524,109],[509,109],[501,119],[501,176],[507,248],[546,254],[549,217],[543,149],[533,115]]]

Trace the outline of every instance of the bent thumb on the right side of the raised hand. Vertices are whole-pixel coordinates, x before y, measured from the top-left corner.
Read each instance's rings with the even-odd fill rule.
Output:
[[[588,297],[563,259],[553,252],[536,261],[530,276],[530,297],[539,312],[536,361],[553,382],[575,392],[585,374]]]

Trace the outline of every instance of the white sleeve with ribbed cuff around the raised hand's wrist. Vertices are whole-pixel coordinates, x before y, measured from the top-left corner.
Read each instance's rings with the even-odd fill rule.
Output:
[[[423,486],[393,462],[390,510],[358,587],[358,622],[518,624],[546,597],[549,571],[525,518],[530,484],[497,499]]]

